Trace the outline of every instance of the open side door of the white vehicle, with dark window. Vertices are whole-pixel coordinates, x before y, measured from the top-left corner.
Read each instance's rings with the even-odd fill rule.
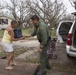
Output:
[[[61,21],[57,28],[57,38],[60,43],[65,43],[68,32],[73,24],[73,21]]]

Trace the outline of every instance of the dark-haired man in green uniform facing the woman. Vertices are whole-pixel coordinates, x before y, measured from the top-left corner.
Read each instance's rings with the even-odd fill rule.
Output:
[[[37,15],[33,15],[31,20],[34,25],[34,32],[31,36],[37,35],[37,39],[40,42],[40,70],[37,75],[44,75],[46,73],[46,68],[50,69],[49,60],[47,57],[47,48],[50,40],[48,26],[45,23],[40,22]]]

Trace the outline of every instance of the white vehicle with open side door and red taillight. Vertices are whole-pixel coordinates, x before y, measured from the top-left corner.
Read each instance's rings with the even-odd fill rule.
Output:
[[[57,28],[60,43],[66,43],[67,56],[76,57],[76,21],[62,21]]]

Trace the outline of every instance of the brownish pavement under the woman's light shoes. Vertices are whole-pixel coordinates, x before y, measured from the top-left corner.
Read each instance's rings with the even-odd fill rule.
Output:
[[[5,70],[6,60],[0,59],[0,75],[34,75],[36,64],[17,62],[18,66],[13,66],[14,69]]]

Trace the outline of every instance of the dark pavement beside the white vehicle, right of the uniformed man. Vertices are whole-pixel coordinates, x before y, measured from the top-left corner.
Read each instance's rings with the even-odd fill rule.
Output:
[[[57,59],[51,59],[50,75],[76,75],[76,58],[68,58],[65,44],[56,44]]]

